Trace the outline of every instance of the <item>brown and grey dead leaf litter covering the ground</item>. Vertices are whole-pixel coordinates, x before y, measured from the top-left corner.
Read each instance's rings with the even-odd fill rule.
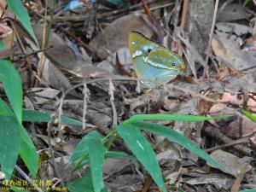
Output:
[[[247,109],[256,114],[256,13],[253,1],[245,7],[235,1],[220,2],[213,34],[211,25],[216,4],[211,0],[191,1],[187,7],[185,0],[171,3],[119,1],[130,3],[129,6],[124,4],[125,7],[107,2],[80,1],[82,7],[64,10],[63,5],[67,5],[67,2],[59,1],[54,12],[51,12],[54,7],[51,3],[44,9],[46,2],[43,0],[26,4],[40,44],[45,41],[45,11],[47,22],[52,25],[48,30],[46,50],[39,52],[36,52],[38,48],[19,23],[14,31],[14,39],[9,36],[12,27],[1,24],[5,49],[0,50],[0,55],[1,58],[13,59],[19,70],[26,89],[24,102],[27,108],[57,111],[65,91],[82,84],[83,80],[94,80],[87,84],[89,94],[86,101],[83,86],[77,86],[67,93],[61,103],[62,114],[81,121],[85,103],[85,129],[71,125],[60,127],[55,122],[48,139],[47,124],[28,125],[36,127],[31,129],[31,135],[37,137],[33,139],[37,141],[35,144],[45,163],[38,175],[44,179],[57,177],[70,181],[83,174],[82,171],[65,172],[67,160],[78,141],[90,131],[100,131],[104,135],[111,131],[113,109],[118,122],[138,113],[209,116],[237,113],[239,115],[236,118],[229,120],[159,123],[173,127],[201,148],[211,149],[211,155],[223,162],[234,175],[244,172],[238,183],[241,185],[236,182],[240,189],[255,188],[253,151],[256,147],[256,123],[241,113],[241,109]],[[9,9],[2,12],[14,18]],[[181,25],[181,22],[185,22],[185,25]],[[128,51],[128,34],[131,31],[141,32],[145,37],[177,50],[186,63],[185,72],[163,88],[150,92],[138,91],[138,82],[130,81],[126,76],[131,74],[135,77]],[[209,42],[211,36],[212,42]],[[26,49],[17,43],[16,37],[22,40],[22,46]],[[208,44],[212,51],[207,50]],[[45,55],[44,68],[39,74],[38,61],[42,55]],[[208,63],[207,55],[210,58]],[[96,80],[113,78],[122,80],[112,81],[114,89],[111,89],[110,94],[109,80]],[[33,84],[35,81],[39,83]],[[235,177],[214,168],[209,170],[211,165],[160,136],[148,134],[147,137],[154,146],[167,187],[173,189],[172,184],[175,183],[173,191],[178,188],[185,191],[235,189]],[[49,142],[55,151],[55,159],[51,159],[51,154],[46,150]],[[130,153],[120,140],[113,143],[113,149]],[[52,163],[53,160],[55,163]],[[47,162],[51,162],[51,166],[47,166]],[[244,169],[247,162],[249,164]],[[83,171],[85,169],[83,167]],[[55,175],[55,170],[61,170],[61,177]],[[108,159],[104,165],[104,177],[111,191],[143,191],[148,174],[142,168],[132,166],[128,160]],[[157,191],[154,183],[149,182],[148,186],[148,191]]]

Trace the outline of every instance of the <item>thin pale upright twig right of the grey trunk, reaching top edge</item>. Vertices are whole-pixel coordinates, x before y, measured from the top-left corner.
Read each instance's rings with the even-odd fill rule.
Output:
[[[207,75],[207,78],[209,78],[208,61],[209,61],[209,55],[210,55],[211,47],[212,47],[212,37],[213,37],[213,32],[214,32],[214,26],[216,23],[217,11],[218,11],[218,0],[216,0],[216,2],[215,2],[213,19],[212,19],[212,28],[211,28],[210,38],[209,38],[209,43],[208,43],[208,48],[207,48],[206,68],[204,69],[204,75],[203,75],[204,77]]]

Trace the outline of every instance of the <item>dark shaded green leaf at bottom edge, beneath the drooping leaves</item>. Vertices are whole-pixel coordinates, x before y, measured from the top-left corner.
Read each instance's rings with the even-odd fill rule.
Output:
[[[95,192],[91,182],[90,169],[86,171],[84,177],[80,177],[75,181],[68,183],[67,188],[71,192]],[[109,190],[104,188],[101,192],[109,192]]]

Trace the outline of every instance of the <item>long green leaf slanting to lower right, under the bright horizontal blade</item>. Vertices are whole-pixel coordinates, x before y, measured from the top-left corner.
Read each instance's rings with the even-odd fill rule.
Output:
[[[224,166],[219,164],[218,161],[214,160],[209,154],[199,148],[195,143],[190,142],[188,138],[183,137],[183,135],[181,135],[177,131],[172,130],[170,127],[166,127],[165,125],[148,123],[145,121],[134,121],[132,125],[137,126],[139,129],[154,132],[157,135],[166,137],[171,142],[178,143],[184,148],[187,148],[192,153],[197,154],[202,159],[207,160],[207,162],[212,164],[212,166],[218,167],[218,169],[222,170],[223,172],[231,174],[227,169],[224,168]]]

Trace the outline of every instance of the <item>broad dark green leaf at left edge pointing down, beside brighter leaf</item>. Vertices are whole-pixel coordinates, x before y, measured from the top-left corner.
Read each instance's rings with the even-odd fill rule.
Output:
[[[15,169],[20,150],[20,124],[15,117],[0,116],[0,164],[6,179]]]

